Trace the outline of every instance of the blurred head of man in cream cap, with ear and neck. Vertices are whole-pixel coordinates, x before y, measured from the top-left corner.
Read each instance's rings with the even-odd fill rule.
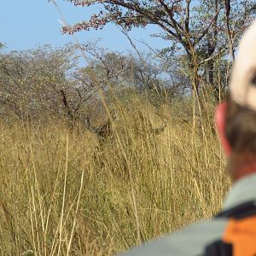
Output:
[[[256,20],[241,38],[230,95],[219,104],[215,122],[231,177],[256,173]]]

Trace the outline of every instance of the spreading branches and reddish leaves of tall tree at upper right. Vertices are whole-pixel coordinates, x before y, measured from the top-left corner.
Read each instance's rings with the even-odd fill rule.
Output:
[[[170,42],[172,55],[183,52],[191,88],[200,86],[200,70],[208,64],[209,82],[213,84],[212,67],[219,56],[235,58],[237,42],[253,18],[256,3],[251,0],[66,0],[75,6],[88,8],[97,5],[102,9],[73,26],[64,26],[63,32],[73,34],[82,30],[102,29],[108,23],[122,26],[125,31],[133,27],[158,26],[156,37]]]

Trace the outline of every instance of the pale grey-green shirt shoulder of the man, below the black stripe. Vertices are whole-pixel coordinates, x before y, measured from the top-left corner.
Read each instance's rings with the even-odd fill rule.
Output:
[[[177,233],[149,241],[120,256],[201,255],[208,244],[221,238],[226,224],[227,219],[224,218],[192,224]]]

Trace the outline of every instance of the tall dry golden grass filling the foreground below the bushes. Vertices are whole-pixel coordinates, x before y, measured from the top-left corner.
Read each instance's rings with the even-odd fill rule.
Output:
[[[131,106],[101,145],[82,125],[0,125],[1,255],[111,255],[218,211],[230,183],[213,108],[163,108],[154,136],[140,118],[159,125],[154,108]]]

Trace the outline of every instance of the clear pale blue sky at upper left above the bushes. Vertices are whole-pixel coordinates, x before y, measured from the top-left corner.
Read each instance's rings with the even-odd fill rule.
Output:
[[[69,24],[86,20],[90,14],[98,11],[96,7],[74,7],[72,3],[57,0],[62,13]],[[42,44],[61,46],[73,41],[68,35],[61,34],[61,17],[52,3],[47,0],[0,0],[0,42],[7,44],[8,50],[32,49]],[[134,40],[143,40],[154,49],[167,46],[160,38],[152,38],[150,34],[159,32],[153,26],[146,29],[135,29],[131,32]],[[102,38],[100,44],[111,50],[131,50],[127,38],[119,27],[108,25],[101,31],[79,32],[80,42],[94,42]],[[147,48],[137,43],[140,50]]]

